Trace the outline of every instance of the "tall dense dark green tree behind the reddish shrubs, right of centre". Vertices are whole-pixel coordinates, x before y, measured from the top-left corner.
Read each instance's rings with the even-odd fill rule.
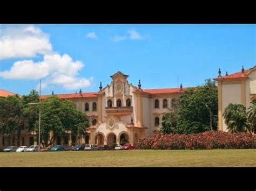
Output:
[[[205,86],[188,88],[180,96],[177,133],[199,133],[217,130],[218,126],[218,90],[212,83]]]

